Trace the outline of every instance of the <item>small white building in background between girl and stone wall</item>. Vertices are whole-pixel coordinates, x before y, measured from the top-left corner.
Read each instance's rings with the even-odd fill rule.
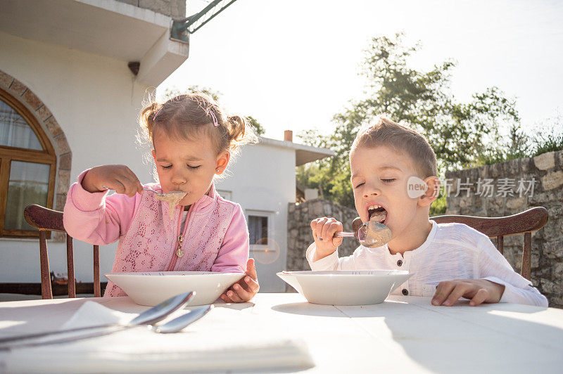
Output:
[[[232,176],[216,186],[221,195],[242,205],[251,237],[251,257],[256,262],[260,290],[284,292],[276,276],[286,270],[287,211],[296,201],[295,167],[334,155],[334,151],[262,138],[243,148]],[[303,254],[305,255],[305,254]]]

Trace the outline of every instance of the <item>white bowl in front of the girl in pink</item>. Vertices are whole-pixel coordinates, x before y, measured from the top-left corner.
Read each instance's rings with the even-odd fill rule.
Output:
[[[224,290],[244,276],[243,273],[213,271],[151,271],[104,275],[137,304],[151,306],[187,291],[196,291],[196,296],[189,305],[213,304]]]

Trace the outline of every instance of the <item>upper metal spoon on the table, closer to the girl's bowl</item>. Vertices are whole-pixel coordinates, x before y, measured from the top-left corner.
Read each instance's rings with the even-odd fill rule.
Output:
[[[34,333],[27,335],[18,335],[13,337],[4,337],[0,339],[0,348],[2,345],[10,342],[20,342],[22,340],[37,339],[39,337],[46,337],[49,335],[74,333],[76,331],[82,331],[82,330],[96,330],[100,328],[115,328],[115,327],[131,328],[138,325],[154,325],[155,323],[162,321],[167,316],[170,316],[170,314],[172,314],[174,311],[177,311],[178,309],[184,307],[191,299],[194,298],[195,295],[196,292],[194,291],[194,292],[184,292],[174,297],[170,297],[170,299],[166,299],[165,301],[155,305],[151,309],[147,309],[146,311],[142,312],[141,314],[139,314],[139,316],[133,318],[126,325],[107,323],[103,325],[84,326],[80,328],[68,328],[65,330],[45,331],[44,333]]]

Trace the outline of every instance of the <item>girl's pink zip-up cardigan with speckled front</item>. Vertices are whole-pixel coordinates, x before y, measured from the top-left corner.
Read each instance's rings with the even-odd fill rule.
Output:
[[[112,272],[221,271],[243,273],[248,259],[248,227],[239,204],[224,200],[212,184],[208,195],[191,205],[182,232],[182,257],[177,256],[182,209],[170,220],[168,204],[154,193],[127,195],[89,193],[78,182],[70,186],[63,220],[78,240],[106,245],[119,240]],[[162,192],[160,185],[145,186]],[[108,282],[104,296],[123,296]]]

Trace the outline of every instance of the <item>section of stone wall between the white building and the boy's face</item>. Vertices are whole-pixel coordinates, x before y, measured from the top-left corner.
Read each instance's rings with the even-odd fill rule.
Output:
[[[305,250],[313,241],[310,222],[319,217],[334,217],[342,222],[344,231],[352,231],[352,221],[358,217],[358,212],[323,199],[307,200],[299,205],[290,203],[287,216],[287,270],[310,270]],[[339,255],[348,256],[356,247],[358,241],[355,238],[344,238]]]

